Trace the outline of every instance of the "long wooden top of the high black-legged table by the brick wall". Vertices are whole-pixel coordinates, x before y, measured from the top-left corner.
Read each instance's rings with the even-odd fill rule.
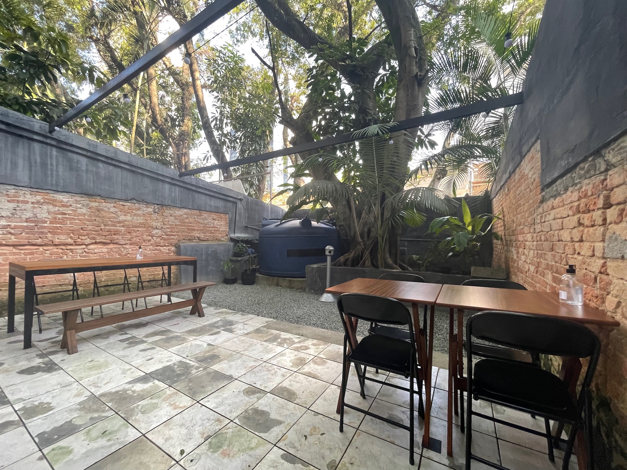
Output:
[[[38,259],[37,261],[22,261],[21,263],[9,263],[9,273],[21,277],[20,274],[26,271],[46,271],[53,269],[81,269],[95,266],[112,267],[125,266],[129,264],[149,264],[149,263],[180,263],[184,261],[194,261],[192,256],[176,256],[167,254],[164,256],[144,256],[137,259],[135,256],[118,256],[115,258],[76,258],[76,259]],[[14,274],[16,273],[16,274]]]

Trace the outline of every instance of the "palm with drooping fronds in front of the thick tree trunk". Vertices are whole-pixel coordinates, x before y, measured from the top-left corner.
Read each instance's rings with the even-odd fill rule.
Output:
[[[366,136],[344,151],[312,155],[297,165],[295,175],[320,163],[327,165],[340,179],[312,180],[292,191],[287,204],[289,216],[305,205],[326,206],[331,201],[338,204],[339,221],[347,232],[356,234],[349,253],[335,262],[336,266],[372,266],[399,269],[389,258],[389,235],[393,227],[401,224],[419,226],[423,224],[426,209],[444,214],[456,206],[453,199],[445,197],[438,189],[409,187],[413,173],[405,165],[402,155],[411,154],[416,146],[413,135],[398,132],[386,133],[390,125],[372,125],[358,131],[356,137]],[[391,145],[392,144],[392,145]],[[398,174],[405,174],[399,179]],[[279,193],[281,194],[281,193]],[[278,194],[277,194],[278,196]],[[342,209],[345,207],[346,209]]]

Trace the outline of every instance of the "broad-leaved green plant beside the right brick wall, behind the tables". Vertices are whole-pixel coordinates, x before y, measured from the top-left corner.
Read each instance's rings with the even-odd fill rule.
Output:
[[[433,233],[436,237],[445,234],[446,238],[435,242],[422,256],[412,256],[422,269],[426,269],[429,263],[443,261],[451,256],[459,256],[466,263],[471,263],[477,257],[484,241],[490,238],[501,239],[499,234],[490,231],[492,224],[500,219],[500,216],[480,214],[472,217],[468,204],[463,199],[461,211],[463,214],[461,219],[453,216],[433,219],[428,233]],[[486,222],[488,222],[487,227],[485,227]]]

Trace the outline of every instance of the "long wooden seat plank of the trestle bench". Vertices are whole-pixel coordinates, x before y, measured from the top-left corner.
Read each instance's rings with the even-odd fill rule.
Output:
[[[165,286],[155,289],[125,292],[121,294],[103,295],[101,297],[87,297],[78,300],[68,300],[66,302],[47,303],[45,305],[36,306],[35,310],[43,313],[44,315],[47,315],[49,313],[57,313],[59,311],[80,310],[81,308],[107,305],[110,303],[141,299],[144,297],[167,295],[175,292],[189,291],[192,289],[203,289],[214,285],[216,285],[216,283],[212,283],[209,281],[198,281],[195,283],[179,284],[176,286]]]

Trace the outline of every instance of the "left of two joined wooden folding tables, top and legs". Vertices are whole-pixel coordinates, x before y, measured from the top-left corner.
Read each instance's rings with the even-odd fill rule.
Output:
[[[386,279],[364,279],[357,278],[351,281],[333,286],[325,290],[330,294],[340,295],[344,293],[370,294],[382,297],[390,297],[401,302],[411,303],[411,310],[414,322],[414,336],[419,342],[418,348],[418,364],[424,373],[424,435],[423,447],[440,452],[441,442],[429,437],[429,422],[431,420],[431,364],[433,363],[433,317],[435,315],[435,302],[442,288],[441,284],[416,283],[407,281],[389,281]],[[430,305],[431,315],[429,320],[429,339],[425,341],[424,328],[420,328],[420,318],[418,314],[418,304]],[[349,325],[349,345],[356,347],[357,345],[357,320],[347,321]],[[337,402],[337,412],[341,396]]]

